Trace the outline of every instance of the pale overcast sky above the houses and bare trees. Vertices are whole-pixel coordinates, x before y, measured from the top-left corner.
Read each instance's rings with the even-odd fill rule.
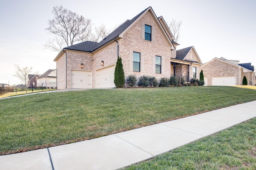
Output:
[[[108,29],[151,6],[165,21],[182,21],[177,50],[194,46],[203,63],[224,57],[256,66],[256,0],[0,0],[0,83],[21,83],[14,64],[39,74],[56,68],[58,53],[43,45],[60,5]]]

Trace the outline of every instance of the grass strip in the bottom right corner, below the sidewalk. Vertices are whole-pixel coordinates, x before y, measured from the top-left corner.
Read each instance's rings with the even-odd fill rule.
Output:
[[[255,170],[256,118],[126,170]]]

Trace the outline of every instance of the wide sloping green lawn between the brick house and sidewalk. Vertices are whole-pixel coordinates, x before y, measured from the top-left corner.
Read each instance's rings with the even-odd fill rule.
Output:
[[[82,141],[256,100],[228,86],[82,90],[0,100],[0,154]]]

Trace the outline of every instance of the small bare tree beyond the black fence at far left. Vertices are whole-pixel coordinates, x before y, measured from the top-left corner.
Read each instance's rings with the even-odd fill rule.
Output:
[[[26,85],[26,92],[28,92],[28,74],[32,71],[32,67],[20,67],[18,64],[14,64],[14,66],[16,68],[16,74],[14,76],[18,77],[21,80],[21,82]]]

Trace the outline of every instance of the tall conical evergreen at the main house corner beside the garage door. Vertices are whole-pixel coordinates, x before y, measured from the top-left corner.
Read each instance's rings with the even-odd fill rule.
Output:
[[[116,61],[116,68],[114,73],[114,84],[116,88],[123,88],[125,84],[124,69],[121,57],[118,57]]]

